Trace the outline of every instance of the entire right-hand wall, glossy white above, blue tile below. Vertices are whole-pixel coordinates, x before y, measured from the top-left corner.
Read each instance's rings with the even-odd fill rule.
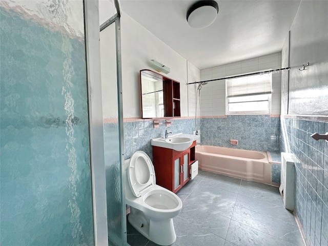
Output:
[[[281,150],[296,156],[295,210],[311,246],[328,245],[328,142],[311,137],[328,132],[327,12],[327,1],[302,1],[290,31],[290,57],[282,57],[291,70],[282,92],[288,93],[288,115],[281,117]]]

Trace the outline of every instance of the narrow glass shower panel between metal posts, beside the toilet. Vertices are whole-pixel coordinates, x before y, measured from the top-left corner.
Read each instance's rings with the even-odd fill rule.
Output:
[[[103,90],[104,146],[109,245],[122,245],[125,226],[125,202],[122,197],[122,167],[118,90],[116,77],[115,24],[100,32],[101,85]]]

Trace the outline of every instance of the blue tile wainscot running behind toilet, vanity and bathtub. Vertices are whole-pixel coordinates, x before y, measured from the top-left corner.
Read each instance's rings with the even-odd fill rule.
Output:
[[[197,122],[198,123],[198,122]],[[146,152],[152,159],[151,139],[164,136],[165,120],[160,127],[153,128],[153,121],[133,121],[124,123],[125,158],[138,151]],[[172,120],[173,133],[193,134],[200,129],[201,144],[245,150],[270,151],[275,160],[280,160],[280,118],[269,115],[238,115],[227,118],[203,118],[202,125],[195,125],[195,119]],[[230,145],[230,139],[238,139],[238,146]],[[279,160],[278,160],[279,158]],[[280,164],[272,167],[272,181],[280,182]]]

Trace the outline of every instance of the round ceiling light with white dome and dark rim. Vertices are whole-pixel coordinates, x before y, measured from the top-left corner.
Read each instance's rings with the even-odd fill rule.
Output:
[[[187,12],[187,22],[192,28],[210,26],[219,12],[219,5],[213,0],[194,3]]]

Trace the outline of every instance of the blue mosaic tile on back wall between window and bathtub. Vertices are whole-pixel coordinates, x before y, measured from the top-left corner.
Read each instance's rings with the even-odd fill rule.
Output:
[[[201,144],[244,150],[279,152],[279,117],[270,115],[229,115],[203,118]],[[230,139],[238,139],[231,145]]]

